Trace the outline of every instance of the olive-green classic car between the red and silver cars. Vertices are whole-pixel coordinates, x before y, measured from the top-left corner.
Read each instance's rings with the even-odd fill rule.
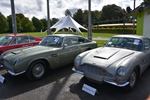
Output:
[[[97,47],[95,41],[73,34],[48,35],[37,46],[4,52],[1,63],[11,75],[26,73],[29,79],[38,80],[49,69],[73,63],[84,51]]]

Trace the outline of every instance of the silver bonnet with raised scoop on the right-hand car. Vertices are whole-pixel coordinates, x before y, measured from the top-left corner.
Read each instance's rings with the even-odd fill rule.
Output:
[[[94,64],[96,66],[107,68],[114,62],[134,54],[132,50],[120,48],[99,48],[89,53],[83,58],[82,63]]]

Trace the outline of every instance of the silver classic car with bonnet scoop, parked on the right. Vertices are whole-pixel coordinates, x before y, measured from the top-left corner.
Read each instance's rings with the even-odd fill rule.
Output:
[[[72,70],[93,82],[132,90],[150,65],[150,40],[138,35],[116,35],[104,47],[79,54]]]

